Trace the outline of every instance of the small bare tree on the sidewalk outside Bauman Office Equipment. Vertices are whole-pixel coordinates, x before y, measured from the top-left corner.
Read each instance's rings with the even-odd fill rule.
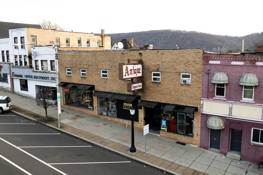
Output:
[[[43,107],[46,111],[46,120],[47,120],[47,108],[53,104],[51,91],[48,89],[41,89],[36,94],[37,105]]]

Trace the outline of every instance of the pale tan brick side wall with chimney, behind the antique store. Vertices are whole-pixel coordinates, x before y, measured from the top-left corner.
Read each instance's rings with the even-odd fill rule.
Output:
[[[101,32],[104,36],[104,30]],[[56,38],[60,39],[60,47],[58,49],[65,50],[103,50],[111,49],[111,37],[102,35],[94,35],[94,33],[80,33],[80,32],[65,32],[56,31],[52,29],[35,29],[27,28],[27,42],[32,43],[31,37],[36,37],[39,45],[56,45]],[[66,47],[66,38],[69,38],[69,46]],[[78,39],[81,39],[81,47],[78,47]],[[90,40],[90,46],[87,47],[87,40]],[[100,40],[100,45],[97,46],[97,40]],[[104,41],[104,43],[103,43]],[[31,46],[28,45],[29,53],[31,53]]]

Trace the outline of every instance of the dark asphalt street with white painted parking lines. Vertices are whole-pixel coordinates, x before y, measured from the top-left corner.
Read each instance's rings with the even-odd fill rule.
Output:
[[[163,174],[11,112],[0,115],[1,174]]]

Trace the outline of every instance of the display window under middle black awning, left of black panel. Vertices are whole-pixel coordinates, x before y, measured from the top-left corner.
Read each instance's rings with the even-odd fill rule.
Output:
[[[117,117],[117,99],[98,98],[98,111],[101,115]]]

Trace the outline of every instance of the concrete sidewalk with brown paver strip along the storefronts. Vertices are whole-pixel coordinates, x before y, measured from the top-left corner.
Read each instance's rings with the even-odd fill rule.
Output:
[[[126,126],[61,108],[60,128],[57,121],[57,106],[47,109],[49,121],[45,121],[45,110],[36,105],[35,99],[0,89],[0,95],[9,96],[13,103],[11,112],[41,122],[52,128],[79,137],[92,144],[130,157],[171,174],[189,175],[259,175],[263,166],[246,161],[236,161],[205,149],[181,145],[159,135],[147,134],[146,158],[145,136],[134,130],[136,152],[130,153],[131,129]]]

